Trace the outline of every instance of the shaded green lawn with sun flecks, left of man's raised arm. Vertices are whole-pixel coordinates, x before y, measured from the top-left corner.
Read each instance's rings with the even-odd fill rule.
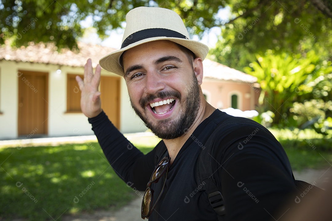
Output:
[[[98,143],[0,149],[0,164],[0,220],[61,220],[65,213],[118,209],[136,196]]]

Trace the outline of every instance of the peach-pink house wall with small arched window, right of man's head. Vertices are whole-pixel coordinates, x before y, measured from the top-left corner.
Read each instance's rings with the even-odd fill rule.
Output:
[[[238,95],[238,109],[242,111],[254,110],[257,103],[256,93],[258,93],[258,89],[245,82],[204,78],[201,88],[203,93],[207,95],[207,102],[218,109],[231,107],[232,94]]]

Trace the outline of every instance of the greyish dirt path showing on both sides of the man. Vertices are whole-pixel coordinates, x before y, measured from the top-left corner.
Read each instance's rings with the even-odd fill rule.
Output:
[[[332,168],[323,170],[306,169],[301,172],[294,171],[296,180],[303,180],[318,187],[323,187],[326,182],[332,181]],[[79,215],[63,216],[63,221],[141,221],[140,207],[141,198],[131,201],[119,211],[96,211],[93,214],[81,213]]]

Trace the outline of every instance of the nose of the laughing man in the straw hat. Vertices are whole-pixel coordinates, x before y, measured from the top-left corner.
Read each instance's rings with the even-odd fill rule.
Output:
[[[155,94],[165,88],[165,83],[156,71],[149,71],[145,77],[144,92],[148,94]]]

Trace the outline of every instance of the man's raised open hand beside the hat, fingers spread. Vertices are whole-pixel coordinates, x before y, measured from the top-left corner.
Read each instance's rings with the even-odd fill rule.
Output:
[[[81,90],[81,109],[83,114],[90,118],[96,117],[102,112],[100,91],[98,91],[100,72],[101,67],[98,64],[96,72],[93,74],[92,62],[89,58],[84,66],[84,80],[76,76],[76,81]]]

